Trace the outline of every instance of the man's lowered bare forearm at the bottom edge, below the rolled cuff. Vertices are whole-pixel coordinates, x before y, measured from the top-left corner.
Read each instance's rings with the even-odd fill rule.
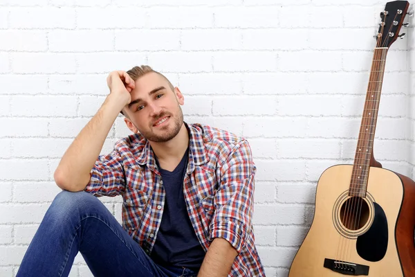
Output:
[[[203,260],[198,277],[225,277],[238,252],[223,238],[215,238]]]

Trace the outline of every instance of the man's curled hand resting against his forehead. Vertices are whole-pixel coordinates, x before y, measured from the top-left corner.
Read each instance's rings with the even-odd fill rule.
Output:
[[[125,71],[112,71],[107,77],[107,85],[110,95],[113,95],[118,101],[122,101],[124,105],[131,102],[130,92],[136,87],[136,82]]]

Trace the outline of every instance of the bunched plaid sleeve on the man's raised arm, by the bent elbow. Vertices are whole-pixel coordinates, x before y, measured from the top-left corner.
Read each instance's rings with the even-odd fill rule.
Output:
[[[125,178],[122,159],[117,150],[100,155],[91,170],[91,179],[84,189],[96,197],[116,196],[124,192]]]

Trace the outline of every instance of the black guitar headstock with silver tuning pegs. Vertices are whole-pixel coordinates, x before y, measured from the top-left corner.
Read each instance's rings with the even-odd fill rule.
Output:
[[[399,30],[403,26],[403,19],[407,15],[408,8],[408,1],[391,1],[386,3],[385,10],[380,12],[382,22],[379,24],[376,47],[389,48],[398,37],[405,35],[399,35]]]

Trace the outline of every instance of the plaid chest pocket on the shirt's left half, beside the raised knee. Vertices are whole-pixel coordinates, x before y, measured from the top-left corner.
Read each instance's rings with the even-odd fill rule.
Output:
[[[124,210],[124,223],[128,229],[137,229],[142,216],[147,210],[149,196],[140,190],[128,190],[124,194],[122,208]]]

